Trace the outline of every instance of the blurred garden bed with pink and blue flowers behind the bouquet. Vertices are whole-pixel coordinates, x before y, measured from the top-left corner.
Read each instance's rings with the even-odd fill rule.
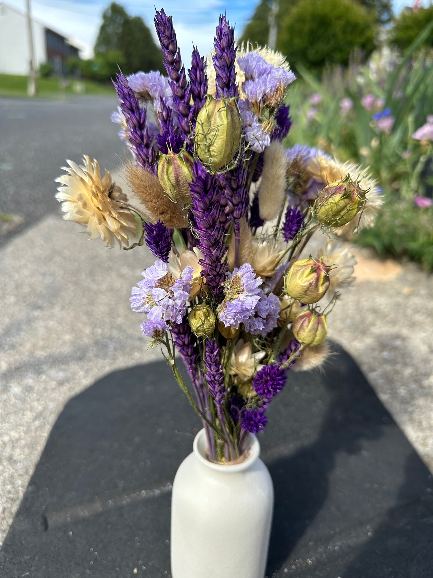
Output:
[[[380,255],[433,270],[433,21],[404,53],[383,45],[367,63],[322,76],[297,66],[288,145],[318,147],[371,168],[385,203],[373,228],[352,239]]]

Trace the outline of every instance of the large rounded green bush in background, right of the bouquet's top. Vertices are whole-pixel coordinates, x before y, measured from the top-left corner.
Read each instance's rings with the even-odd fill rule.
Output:
[[[303,0],[286,14],[278,49],[294,65],[348,64],[355,48],[365,55],[374,50],[374,20],[351,0]]]

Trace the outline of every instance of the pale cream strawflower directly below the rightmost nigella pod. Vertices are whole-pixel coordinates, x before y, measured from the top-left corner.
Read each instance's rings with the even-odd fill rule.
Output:
[[[355,277],[353,277],[353,266],[356,265],[356,259],[350,253],[347,247],[341,243],[335,243],[329,239],[326,247],[319,249],[316,257],[322,258],[332,269],[329,272],[329,288],[326,297],[332,299],[335,291],[350,287]]]

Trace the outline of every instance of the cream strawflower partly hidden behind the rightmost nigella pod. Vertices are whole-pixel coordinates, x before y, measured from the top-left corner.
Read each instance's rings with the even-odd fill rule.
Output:
[[[359,183],[363,190],[367,191],[365,195],[367,202],[363,209],[354,216],[352,221],[337,229],[338,235],[374,225],[383,199],[379,195],[378,183],[370,175],[368,169],[363,169],[352,161],[340,162],[337,159],[327,158],[318,153],[315,157],[308,160],[306,172],[314,180],[323,184],[336,183],[350,175],[353,181]]]

